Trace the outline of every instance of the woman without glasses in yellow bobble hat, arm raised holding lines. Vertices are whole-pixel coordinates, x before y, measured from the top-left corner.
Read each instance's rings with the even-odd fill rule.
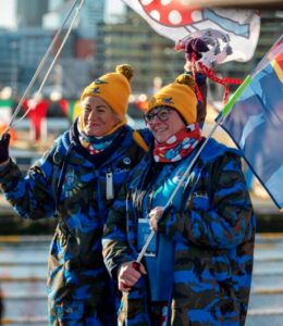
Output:
[[[120,65],[82,95],[83,112],[23,177],[0,142],[0,183],[24,218],[58,216],[50,247],[50,325],[116,325],[115,287],[101,254],[102,226],[128,172],[145,153],[126,125],[133,70]]]

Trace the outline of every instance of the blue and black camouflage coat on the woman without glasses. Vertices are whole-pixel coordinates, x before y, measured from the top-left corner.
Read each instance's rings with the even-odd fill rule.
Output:
[[[25,177],[12,161],[1,170],[1,189],[21,216],[39,220],[58,211],[48,268],[51,310],[64,302],[84,302],[98,311],[101,325],[115,325],[114,287],[101,253],[102,227],[113,202],[106,197],[106,178],[111,175],[118,195],[144,153],[132,128],[124,126],[108,149],[90,155],[74,125]],[[74,314],[75,310],[81,308],[75,306]]]

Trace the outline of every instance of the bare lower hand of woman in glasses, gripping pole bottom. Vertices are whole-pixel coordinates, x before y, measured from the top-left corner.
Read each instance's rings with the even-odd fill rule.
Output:
[[[122,264],[118,271],[118,288],[122,292],[128,292],[138,281],[142,274],[147,274],[142,263],[138,264],[138,269],[133,263],[134,262],[126,262]]]

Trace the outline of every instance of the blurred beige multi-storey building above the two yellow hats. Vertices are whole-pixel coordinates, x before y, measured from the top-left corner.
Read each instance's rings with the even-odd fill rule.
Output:
[[[131,9],[114,24],[99,27],[96,74],[112,71],[116,64],[128,63],[135,70],[134,93],[152,93],[155,80],[171,82],[183,71],[184,53],[174,51],[174,42],[161,37]]]

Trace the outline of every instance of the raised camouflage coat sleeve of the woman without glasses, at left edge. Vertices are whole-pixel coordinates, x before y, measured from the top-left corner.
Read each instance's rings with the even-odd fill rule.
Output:
[[[25,177],[12,160],[0,170],[0,188],[7,200],[24,218],[39,220],[53,215],[53,151],[54,148],[38,160]]]

